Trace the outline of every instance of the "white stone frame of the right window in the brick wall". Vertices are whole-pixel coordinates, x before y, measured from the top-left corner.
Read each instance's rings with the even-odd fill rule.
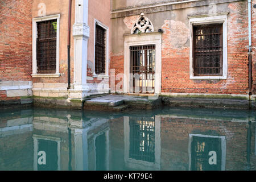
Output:
[[[190,56],[189,56],[189,76],[191,80],[194,79],[216,79],[226,80],[228,77],[228,12],[213,15],[197,15],[188,16],[189,31],[190,31]],[[223,38],[223,61],[222,61],[222,76],[195,76],[193,70],[193,26],[200,24],[214,24],[222,23],[222,38]]]

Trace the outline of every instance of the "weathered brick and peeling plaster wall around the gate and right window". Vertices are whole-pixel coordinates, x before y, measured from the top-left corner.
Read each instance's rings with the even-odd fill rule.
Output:
[[[217,1],[220,2],[220,1]],[[221,93],[247,94],[247,1],[221,1],[216,6],[208,1],[184,3],[166,7],[166,11],[155,8],[143,9],[154,24],[154,30],[162,28],[162,93]],[[205,4],[207,4],[205,6]],[[191,5],[189,7],[188,5]],[[216,7],[216,8],[215,8]],[[228,14],[228,78],[226,80],[191,80],[189,78],[189,19],[188,15],[212,14],[229,11]],[[112,59],[110,68],[115,73],[123,72],[123,35],[138,17],[138,10],[112,13]],[[129,14],[131,16],[125,16]],[[118,18],[115,18],[118,17]],[[255,75],[255,74],[254,74]],[[255,80],[255,79],[254,79]],[[117,83],[116,83],[117,84]]]

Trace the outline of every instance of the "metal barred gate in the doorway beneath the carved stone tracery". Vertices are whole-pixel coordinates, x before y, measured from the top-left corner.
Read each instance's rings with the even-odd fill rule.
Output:
[[[155,93],[155,45],[130,47],[130,93]]]

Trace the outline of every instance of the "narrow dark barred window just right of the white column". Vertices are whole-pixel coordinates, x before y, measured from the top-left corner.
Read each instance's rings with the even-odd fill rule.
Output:
[[[105,34],[106,30],[96,24],[95,34],[95,73],[97,75],[105,73]]]

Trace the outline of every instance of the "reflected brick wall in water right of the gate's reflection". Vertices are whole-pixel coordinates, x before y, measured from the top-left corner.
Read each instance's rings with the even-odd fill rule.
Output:
[[[162,169],[187,170],[189,134],[203,134],[225,136],[226,170],[245,170],[246,123],[171,117],[162,118],[161,122]],[[254,151],[255,125],[251,128],[251,151]]]

